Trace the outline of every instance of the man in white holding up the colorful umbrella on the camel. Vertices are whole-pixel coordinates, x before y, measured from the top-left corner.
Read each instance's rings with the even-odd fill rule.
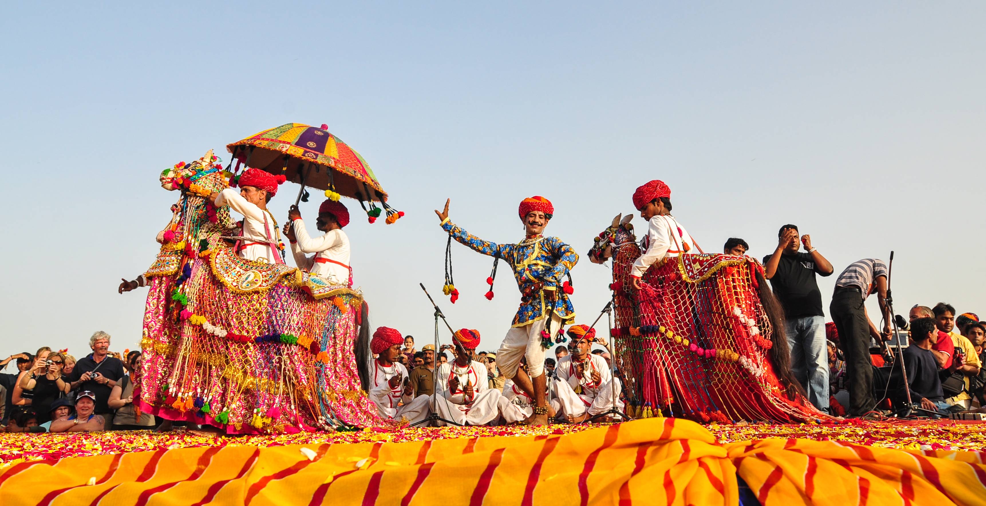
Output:
[[[325,232],[317,238],[309,236],[298,206],[291,206],[284,236],[291,241],[291,253],[299,269],[327,281],[330,285],[353,285],[353,269],[349,267],[349,237],[342,227],[349,224],[349,210],[340,202],[325,199],[318,207],[316,228]],[[315,253],[312,257],[307,253]]]

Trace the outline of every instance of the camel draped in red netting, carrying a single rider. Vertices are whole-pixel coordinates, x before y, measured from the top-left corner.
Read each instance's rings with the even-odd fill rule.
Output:
[[[634,290],[640,256],[616,226],[613,284],[618,365],[635,404],[697,421],[829,419],[791,381],[783,330],[761,301],[750,257],[682,254],[653,265]],[[776,314],[776,312],[775,312]]]

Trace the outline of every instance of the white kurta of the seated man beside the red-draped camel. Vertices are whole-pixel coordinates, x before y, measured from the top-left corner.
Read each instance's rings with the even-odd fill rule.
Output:
[[[617,409],[622,410],[619,395],[623,387],[618,378],[612,377],[606,359],[590,353],[584,363],[585,370],[580,376],[576,364],[572,363],[572,355],[558,360],[555,387],[561,411],[566,416],[581,416],[587,411],[589,414],[599,414],[612,408],[614,403]],[[598,382],[593,380],[593,371],[599,373]]]

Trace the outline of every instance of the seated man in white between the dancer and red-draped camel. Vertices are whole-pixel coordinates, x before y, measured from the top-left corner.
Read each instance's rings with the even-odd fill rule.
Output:
[[[622,411],[623,402],[619,400],[622,384],[613,379],[605,358],[589,352],[596,339],[596,329],[573,325],[568,329],[568,337],[571,353],[563,356],[555,368],[562,414],[568,421],[578,423],[609,410],[614,403]]]

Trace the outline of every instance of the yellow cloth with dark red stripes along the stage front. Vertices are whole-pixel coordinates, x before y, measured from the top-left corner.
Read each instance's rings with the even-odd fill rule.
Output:
[[[986,504],[986,453],[720,444],[645,418],[563,435],[198,447],[20,463],[0,504]]]

